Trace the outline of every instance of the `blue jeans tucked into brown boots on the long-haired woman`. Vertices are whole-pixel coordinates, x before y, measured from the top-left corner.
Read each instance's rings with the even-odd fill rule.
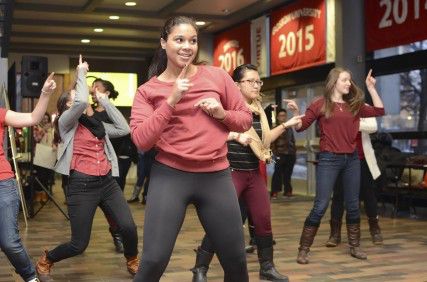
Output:
[[[329,205],[332,191],[338,175],[343,181],[343,194],[347,209],[347,224],[360,222],[359,190],[360,190],[360,161],[357,151],[351,154],[319,153],[319,163],[316,168],[316,197],[314,206],[305,224],[319,226]]]

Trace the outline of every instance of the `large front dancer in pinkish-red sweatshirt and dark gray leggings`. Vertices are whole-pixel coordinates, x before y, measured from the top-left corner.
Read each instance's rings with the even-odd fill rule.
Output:
[[[252,116],[231,77],[193,64],[197,26],[166,21],[161,48],[140,86],[131,114],[138,147],[158,150],[150,176],[142,259],[134,281],[158,282],[172,254],[186,208],[194,204],[224,268],[224,281],[248,281],[239,204],[227,161],[230,131],[250,128]]]

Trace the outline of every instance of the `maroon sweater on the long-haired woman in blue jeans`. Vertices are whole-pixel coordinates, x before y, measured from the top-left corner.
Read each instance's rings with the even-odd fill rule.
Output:
[[[347,104],[335,106],[331,117],[326,118],[321,112],[323,98],[315,100],[307,108],[302,118],[302,127],[297,131],[308,128],[315,120],[320,128],[320,151],[332,153],[353,153],[356,150],[356,137],[359,132],[361,117],[384,115],[384,108],[376,108],[364,104],[353,116]]]

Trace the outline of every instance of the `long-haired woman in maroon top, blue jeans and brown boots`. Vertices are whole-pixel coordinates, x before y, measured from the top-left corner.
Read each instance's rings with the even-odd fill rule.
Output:
[[[364,94],[351,79],[347,69],[334,68],[326,78],[322,98],[315,100],[306,110],[297,131],[308,128],[317,121],[320,128],[320,153],[316,169],[316,197],[314,206],[305,220],[301,234],[297,262],[308,263],[308,253],[319,228],[320,221],[328,208],[329,199],[338,175],[341,173],[344,201],[347,209],[346,223],[350,254],[366,259],[360,250],[360,163],[356,149],[356,137],[361,117],[384,115],[384,106],[375,89],[372,70],[366,77],[366,87],[371,95],[373,107],[366,105]],[[295,102],[286,100],[298,114]]]

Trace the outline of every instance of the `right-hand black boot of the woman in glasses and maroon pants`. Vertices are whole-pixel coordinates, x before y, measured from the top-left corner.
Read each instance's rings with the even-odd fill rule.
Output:
[[[258,261],[260,265],[259,279],[277,282],[288,282],[288,277],[280,274],[274,267],[272,236],[257,236],[256,241],[258,247]]]

